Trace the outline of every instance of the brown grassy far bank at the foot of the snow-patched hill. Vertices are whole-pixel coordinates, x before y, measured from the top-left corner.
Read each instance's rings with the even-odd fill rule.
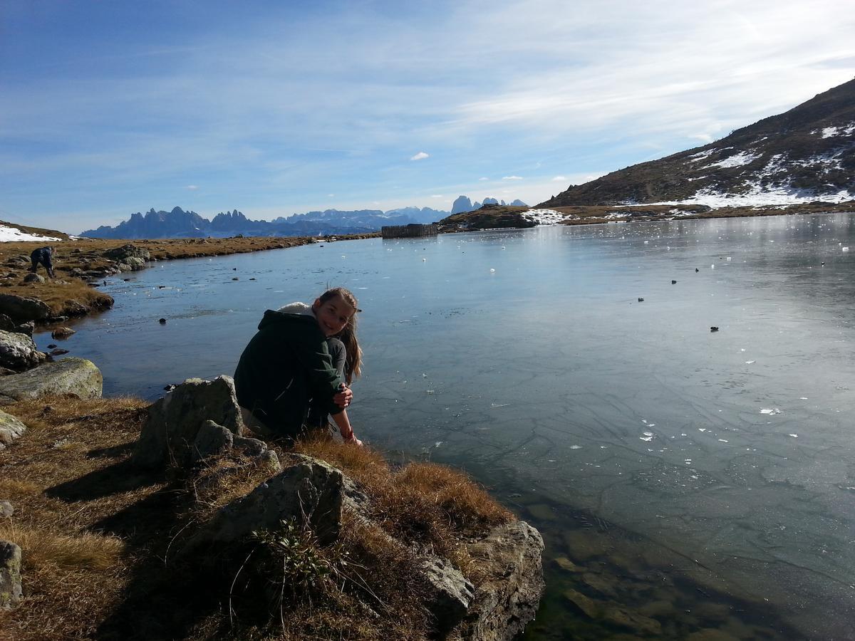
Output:
[[[526,213],[535,208],[485,205],[475,211],[451,215],[439,223],[440,232],[475,232],[484,229],[532,227]],[[755,207],[720,207],[709,205],[570,205],[550,207],[565,216],[563,225],[601,225],[618,221],[670,221],[702,218],[743,218],[800,214],[855,212],[855,201],[846,203],[803,203],[795,205],[758,205]]]

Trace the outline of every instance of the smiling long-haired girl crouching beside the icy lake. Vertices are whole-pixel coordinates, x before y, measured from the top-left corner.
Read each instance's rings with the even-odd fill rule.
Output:
[[[240,355],[234,387],[246,425],[268,438],[320,431],[332,415],[345,443],[361,445],[345,408],[360,373],[357,299],[335,287],[311,305],[268,309]]]

